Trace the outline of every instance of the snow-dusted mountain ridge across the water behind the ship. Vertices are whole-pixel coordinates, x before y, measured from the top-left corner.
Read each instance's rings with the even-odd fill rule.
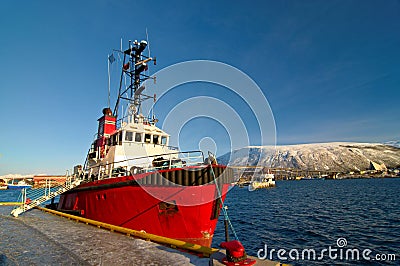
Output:
[[[249,146],[218,158],[229,165],[262,165],[317,171],[365,170],[370,162],[400,166],[400,148],[380,143],[332,142],[287,146]]]

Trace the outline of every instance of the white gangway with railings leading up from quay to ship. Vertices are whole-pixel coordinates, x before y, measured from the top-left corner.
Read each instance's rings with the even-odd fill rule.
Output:
[[[79,186],[81,182],[81,179],[75,179],[74,176],[67,176],[65,183],[59,186],[52,186],[51,180],[46,180],[44,188],[23,189],[21,193],[21,205],[13,209],[11,215],[18,217],[21,213],[29,211],[30,209]]]

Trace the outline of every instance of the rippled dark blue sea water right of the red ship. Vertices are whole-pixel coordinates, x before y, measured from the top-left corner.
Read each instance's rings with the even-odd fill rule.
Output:
[[[399,196],[399,178],[277,181],[275,188],[253,192],[235,187],[225,204],[250,255],[269,259],[275,249],[273,259],[293,265],[400,265]],[[214,244],[224,241],[223,218]],[[366,249],[371,252],[364,259]]]

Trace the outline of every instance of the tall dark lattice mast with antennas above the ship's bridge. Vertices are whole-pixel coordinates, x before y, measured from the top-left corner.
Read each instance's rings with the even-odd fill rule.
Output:
[[[128,102],[130,113],[133,116],[134,121],[138,120],[138,116],[141,112],[141,103],[147,99],[155,98],[143,94],[145,89],[142,83],[148,79],[155,80],[155,77],[146,75],[143,73],[148,69],[148,62],[153,61],[156,64],[156,59],[149,56],[143,55],[144,50],[147,47],[147,41],[134,42],[129,41],[129,48],[125,51],[118,51],[124,55],[121,69],[120,84],[118,89],[118,98],[115,103],[113,115],[118,116],[118,110],[121,104],[121,100]],[[128,85],[124,87],[124,77],[129,80]],[[155,119],[152,118],[154,123]]]

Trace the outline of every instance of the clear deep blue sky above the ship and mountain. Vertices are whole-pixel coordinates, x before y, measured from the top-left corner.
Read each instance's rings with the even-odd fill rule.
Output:
[[[278,144],[399,137],[399,1],[5,0],[0,175],[83,163],[107,105],[107,55],[146,28],[154,71],[208,59],[249,75],[271,106]],[[182,136],[210,134],[199,132],[188,125]]]

